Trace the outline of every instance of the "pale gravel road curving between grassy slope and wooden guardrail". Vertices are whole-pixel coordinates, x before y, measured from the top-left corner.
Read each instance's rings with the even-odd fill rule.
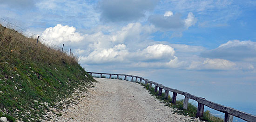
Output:
[[[119,79],[100,79],[83,92],[77,104],[61,111],[58,122],[201,122],[179,115],[159,103],[142,85]]]

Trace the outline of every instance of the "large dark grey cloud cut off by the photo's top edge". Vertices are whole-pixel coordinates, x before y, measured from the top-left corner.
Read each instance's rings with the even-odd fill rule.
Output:
[[[101,0],[101,20],[107,22],[133,21],[153,11],[159,0]]]

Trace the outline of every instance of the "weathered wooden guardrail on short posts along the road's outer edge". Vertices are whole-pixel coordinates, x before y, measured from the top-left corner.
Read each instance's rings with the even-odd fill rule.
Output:
[[[200,97],[197,97],[195,95],[191,95],[188,92],[182,92],[180,90],[164,86],[162,84],[150,81],[148,79],[144,79],[144,78],[139,77],[139,76],[128,75],[128,74],[115,74],[115,73],[94,73],[94,72],[88,72],[88,73],[90,73],[90,75],[100,74],[101,78],[102,78],[102,74],[106,74],[106,75],[109,75],[110,79],[112,78],[112,75],[116,75],[117,79],[119,79],[119,76],[124,76],[124,80],[127,80],[127,77],[131,77],[131,81],[133,81],[133,79],[135,78],[135,81],[138,82],[138,79],[140,79],[140,83],[142,82],[142,80],[144,80],[145,84],[146,85],[149,84],[150,88],[152,87],[152,84],[154,84],[155,85],[155,92],[158,91],[159,95],[162,95],[162,90],[165,90],[165,98],[168,98],[169,92],[173,92],[173,94],[172,94],[172,103],[174,103],[174,104],[176,102],[177,94],[181,94],[181,95],[185,96],[184,102],[183,102],[183,109],[185,109],[185,110],[188,109],[189,99],[193,99],[196,102],[198,102],[196,117],[202,117],[204,105],[206,105],[209,108],[212,108],[214,110],[218,110],[220,112],[225,113],[224,122],[232,122],[233,121],[233,116],[236,116],[236,117],[241,118],[241,119],[243,119],[245,121],[248,121],[248,122],[256,122],[256,116],[254,116],[254,115],[251,115],[251,114],[248,114],[248,113],[245,113],[243,111],[236,110],[236,109],[233,109],[233,108],[230,108],[230,107],[226,107],[226,106],[221,105],[221,104],[216,104],[214,102],[206,100],[205,98],[200,98]]]

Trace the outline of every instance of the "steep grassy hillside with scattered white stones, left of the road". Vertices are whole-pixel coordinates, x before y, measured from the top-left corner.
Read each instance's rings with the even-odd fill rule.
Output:
[[[75,57],[0,25],[0,117],[39,121],[54,103],[92,81]]]

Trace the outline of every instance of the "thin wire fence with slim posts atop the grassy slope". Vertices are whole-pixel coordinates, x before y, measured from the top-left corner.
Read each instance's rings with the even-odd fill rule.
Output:
[[[16,24],[13,24],[13,23],[11,23],[11,22],[9,22],[9,21],[7,21],[7,20],[4,19],[4,18],[0,18],[0,19],[7,23],[7,24],[5,25],[5,27],[8,27],[9,25],[13,25],[14,27],[18,28],[17,30],[21,30],[21,33],[22,33],[24,36],[32,37],[32,38],[36,38],[36,37],[37,37],[37,38],[38,38],[38,41],[40,41],[40,43],[45,44],[47,47],[50,47],[50,48],[56,49],[56,50],[61,50],[62,52],[67,53],[67,54],[70,53],[70,56],[71,56],[71,49],[65,49],[65,48],[63,48],[63,47],[64,47],[64,44],[63,44],[63,47],[60,47],[60,46],[58,46],[58,45],[56,45],[56,44],[54,44],[54,43],[52,43],[52,42],[50,42],[50,41],[48,41],[48,40],[42,38],[42,37],[40,37],[39,34],[34,34],[34,33],[30,32],[30,31],[28,31],[28,30],[25,30],[25,29],[21,28],[20,26],[18,26],[18,25],[16,25]],[[0,24],[2,24],[2,22],[1,22]],[[14,29],[13,29],[13,30],[14,30]],[[16,29],[15,29],[15,30],[16,30]],[[27,33],[29,33],[30,35],[26,35],[26,34],[24,33],[24,31],[27,32]],[[39,40],[39,39],[40,39],[40,40]],[[73,53],[72,53],[72,55],[73,55]]]

